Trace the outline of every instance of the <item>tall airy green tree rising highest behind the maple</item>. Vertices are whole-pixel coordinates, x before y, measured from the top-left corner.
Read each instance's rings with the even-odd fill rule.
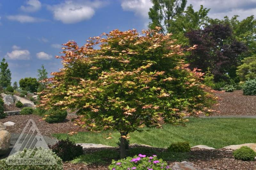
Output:
[[[187,0],[151,0],[153,7],[149,8],[149,28],[161,27],[161,32],[165,33],[171,26],[172,19],[181,14],[187,4]]]

